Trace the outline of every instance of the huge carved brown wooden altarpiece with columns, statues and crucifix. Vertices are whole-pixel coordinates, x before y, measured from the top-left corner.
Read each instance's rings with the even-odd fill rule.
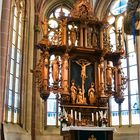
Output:
[[[36,46],[41,57],[34,75],[41,98],[59,94],[69,126],[109,126],[109,98],[119,104],[124,100],[121,31],[116,31],[118,43],[112,51],[108,23],[96,17],[86,0],[76,2],[68,17],[61,10],[55,28],[50,20],[42,22],[43,38]]]

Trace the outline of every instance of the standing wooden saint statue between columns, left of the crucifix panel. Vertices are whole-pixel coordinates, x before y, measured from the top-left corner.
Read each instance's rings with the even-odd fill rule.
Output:
[[[54,83],[58,83],[59,80],[59,60],[56,56],[52,61],[52,78]]]

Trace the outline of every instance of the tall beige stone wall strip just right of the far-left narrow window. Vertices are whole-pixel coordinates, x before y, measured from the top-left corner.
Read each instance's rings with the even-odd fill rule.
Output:
[[[24,41],[24,66],[23,66],[23,128],[31,132],[32,119],[32,79],[33,51],[34,51],[34,0],[27,1]]]

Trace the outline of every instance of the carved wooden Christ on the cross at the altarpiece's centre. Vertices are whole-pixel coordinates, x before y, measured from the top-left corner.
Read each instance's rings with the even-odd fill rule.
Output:
[[[81,66],[82,92],[84,94],[85,93],[85,88],[84,88],[85,79],[87,78],[87,75],[86,75],[86,67],[88,65],[90,65],[91,63],[88,62],[85,59],[79,59],[78,61],[76,61],[76,63]]]

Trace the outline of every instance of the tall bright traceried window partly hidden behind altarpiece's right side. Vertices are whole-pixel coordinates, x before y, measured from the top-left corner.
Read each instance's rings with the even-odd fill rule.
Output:
[[[140,124],[140,101],[138,91],[138,65],[136,44],[134,43],[133,35],[124,33],[124,14],[126,11],[128,0],[114,1],[110,7],[108,21],[110,23],[109,36],[110,43],[113,46],[113,51],[119,43],[118,31],[122,34],[122,44],[126,52],[125,59],[122,59],[121,66],[124,75],[128,78],[127,88],[124,91],[125,100],[121,105],[118,105],[111,98],[111,125],[134,125]]]

